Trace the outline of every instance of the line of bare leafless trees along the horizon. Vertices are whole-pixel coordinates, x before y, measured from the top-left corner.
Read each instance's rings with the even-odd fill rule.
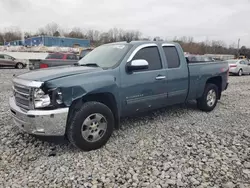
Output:
[[[0,32],[0,45],[4,42],[13,40],[21,40],[34,36],[64,36],[71,38],[85,38],[91,41],[92,46],[99,46],[109,42],[132,41],[132,40],[163,40],[159,37],[142,37],[142,33],[138,30],[124,30],[112,28],[108,31],[99,31],[94,29],[84,30],[74,27],[70,30],[61,28],[56,23],[49,23],[44,27],[38,28],[34,33],[21,32],[18,27],[5,28]],[[169,40],[168,40],[169,41]],[[245,46],[237,48],[236,44],[227,46],[223,41],[203,41],[195,42],[193,37],[174,37],[171,41],[178,42],[185,52],[192,54],[232,54],[244,55],[250,58],[250,49]]]

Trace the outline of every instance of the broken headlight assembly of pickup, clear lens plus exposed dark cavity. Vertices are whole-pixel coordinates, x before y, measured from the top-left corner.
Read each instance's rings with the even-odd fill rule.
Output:
[[[48,93],[45,93],[42,89],[34,90],[34,107],[35,108],[45,108],[52,107],[57,108],[62,106],[62,93],[60,89],[50,89]]]

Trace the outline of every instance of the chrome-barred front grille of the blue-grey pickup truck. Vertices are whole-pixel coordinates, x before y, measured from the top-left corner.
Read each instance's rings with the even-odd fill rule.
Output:
[[[29,110],[32,107],[32,91],[30,87],[17,85],[13,86],[16,105],[24,110]]]

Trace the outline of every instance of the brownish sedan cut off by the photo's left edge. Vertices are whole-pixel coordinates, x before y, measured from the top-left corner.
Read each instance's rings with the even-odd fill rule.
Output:
[[[0,67],[14,67],[23,69],[26,67],[26,62],[21,59],[16,59],[7,54],[0,54]]]

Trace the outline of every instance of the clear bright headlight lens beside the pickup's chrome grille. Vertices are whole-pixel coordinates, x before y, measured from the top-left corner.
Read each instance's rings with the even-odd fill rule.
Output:
[[[44,108],[50,105],[50,97],[45,94],[42,89],[34,90],[34,106],[35,108]]]

